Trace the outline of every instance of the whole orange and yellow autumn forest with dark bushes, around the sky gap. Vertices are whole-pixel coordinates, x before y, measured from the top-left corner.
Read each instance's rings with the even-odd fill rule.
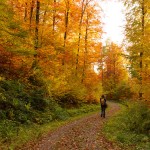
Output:
[[[102,43],[97,0],[0,1],[0,143],[9,145],[21,128],[74,115],[67,110],[93,111],[102,94],[149,105],[150,1],[120,1],[119,45]]]

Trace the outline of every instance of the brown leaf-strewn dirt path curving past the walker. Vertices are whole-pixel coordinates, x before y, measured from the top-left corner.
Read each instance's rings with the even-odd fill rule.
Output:
[[[24,150],[122,150],[102,134],[105,121],[119,110],[115,103],[109,103],[109,107],[105,119],[99,113],[79,119],[58,128]]]

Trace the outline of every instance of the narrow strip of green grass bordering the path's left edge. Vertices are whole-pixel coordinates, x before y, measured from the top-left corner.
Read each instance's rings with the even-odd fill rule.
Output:
[[[1,139],[0,149],[19,149],[29,141],[35,142],[39,138],[47,135],[48,132],[55,130],[64,124],[95,113],[96,111],[99,111],[99,105],[83,105],[78,109],[67,109],[66,112],[68,113],[68,117],[62,116],[62,120],[55,119],[50,123],[42,125],[31,124],[19,126],[19,130],[15,135],[13,134],[9,141],[5,142]]]

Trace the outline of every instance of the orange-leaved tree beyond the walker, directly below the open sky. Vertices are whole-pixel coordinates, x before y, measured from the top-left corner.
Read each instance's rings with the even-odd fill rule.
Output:
[[[127,87],[128,72],[123,57],[124,52],[114,43],[107,43],[102,51],[99,63],[103,90],[108,94],[108,99],[125,98],[130,93],[127,93],[129,92]]]

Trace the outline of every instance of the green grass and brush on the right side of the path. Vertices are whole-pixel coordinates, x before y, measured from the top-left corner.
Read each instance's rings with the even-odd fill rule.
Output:
[[[150,147],[150,108],[142,102],[128,103],[104,127],[104,133],[113,141],[135,149]]]

